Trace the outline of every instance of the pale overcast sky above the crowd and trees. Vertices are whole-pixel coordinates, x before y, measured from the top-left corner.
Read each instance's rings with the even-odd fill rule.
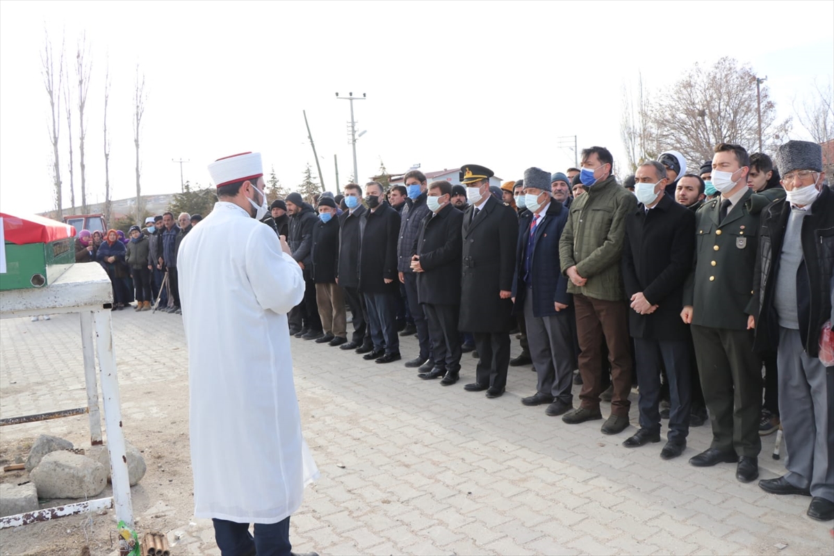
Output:
[[[751,63],[781,118],[816,78],[834,73],[834,2],[0,2],[0,210],[53,208],[48,98],[41,78],[44,27],[70,61],[86,32],[88,201],[103,201],[103,82],[112,89],[113,198],[135,195],[133,78],[145,74],[142,192],[177,193],[179,165],[208,183],[215,158],[260,151],[284,186],[314,157],[325,186],[353,173],[354,103],[360,181],[420,163],[424,171],[479,163],[504,179],[525,168],[573,165],[560,136],[580,149],[620,142],[624,83],[671,85],[694,63]],[[69,207],[62,113],[61,171]],[[796,118],[795,118],[796,120]],[[795,121],[791,138],[810,138]],[[80,204],[78,122],[73,123]],[[696,161],[690,161],[691,163]]]

